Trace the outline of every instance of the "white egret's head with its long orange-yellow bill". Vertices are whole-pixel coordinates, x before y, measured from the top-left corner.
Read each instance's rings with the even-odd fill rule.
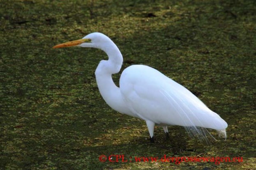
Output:
[[[106,35],[99,32],[94,32],[94,33],[88,34],[82,39],[58,44],[58,45],[55,45],[53,48],[80,46],[80,47],[99,48],[101,50],[104,50],[104,47],[112,43],[113,41],[111,41],[111,39],[109,39]]]

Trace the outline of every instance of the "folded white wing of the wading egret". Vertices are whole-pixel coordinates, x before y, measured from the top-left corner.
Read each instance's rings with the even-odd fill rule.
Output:
[[[126,68],[120,91],[127,106],[144,120],[157,124],[226,129],[227,123],[187,88],[144,65]]]

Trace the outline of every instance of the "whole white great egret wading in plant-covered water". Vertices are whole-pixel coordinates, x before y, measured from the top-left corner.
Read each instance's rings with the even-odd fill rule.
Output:
[[[108,60],[101,60],[95,71],[101,96],[112,109],[145,120],[151,142],[154,142],[155,124],[163,127],[166,136],[167,125],[180,125],[198,137],[206,137],[204,129],[210,128],[226,138],[228,124],[217,113],[187,88],[154,68],[145,65],[127,67],[120,77],[120,87],[117,87],[111,76],[120,71],[123,57],[108,36],[95,32],[53,48],[70,46],[99,48],[106,52]]]

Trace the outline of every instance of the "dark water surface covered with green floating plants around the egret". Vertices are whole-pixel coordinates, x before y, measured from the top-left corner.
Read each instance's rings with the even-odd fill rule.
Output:
[[[0,0],[0,169],[255,169],[254,0]],[[150,144],[142,120],[113,111],[94,71],[97,49],[51,47],[108,35],[124,63],[160,70],[228,122],[210,145],[170,126]],[[113,75],[118,84],[120,74]],[[242,163],[99,161],[100,155],[230,156]]]

